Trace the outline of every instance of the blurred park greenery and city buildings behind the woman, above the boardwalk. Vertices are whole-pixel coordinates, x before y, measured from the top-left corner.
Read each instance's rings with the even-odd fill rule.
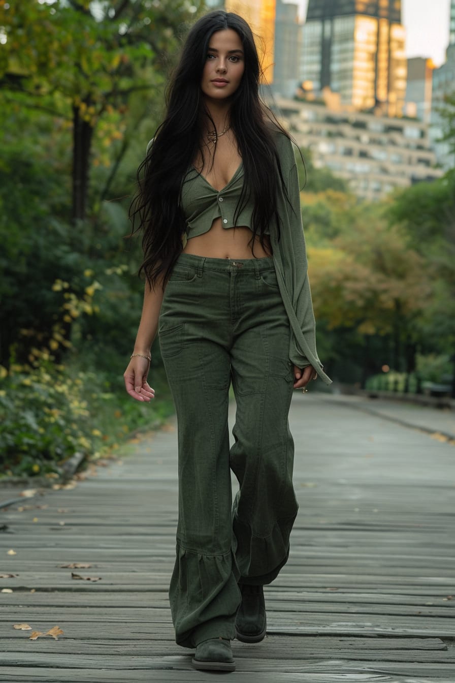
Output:
[[[335,387],[455,395],[455,0],[0,0],[0,477],[52,478],[173,410],[158,344],[156,400],[123,389],[128,206],[181,40],[220,6],[261,36],[263,96],[302,149]]]

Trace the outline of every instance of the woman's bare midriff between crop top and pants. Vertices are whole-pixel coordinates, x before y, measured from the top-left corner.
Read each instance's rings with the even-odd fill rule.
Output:
[[[268,251],[262,247],[258,237],[252,242],[249,227],[241,225],[226,229],[222,227],[221,219],[218,218],[211,224],[208,232],[192,237],[186,242],[184,253],[206,258],[266,258],[272,255],[267,236],[264,238],[264,245]]]

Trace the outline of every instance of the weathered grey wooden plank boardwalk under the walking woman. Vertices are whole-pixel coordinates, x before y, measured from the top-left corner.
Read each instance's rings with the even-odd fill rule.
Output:
[[[229,680],[454,683],[454,445],[317,393],[295,394],[291,430],[291,557],[266,589],[267,638],[233,642]],[[123,464],[0,510],[0,574],[18,574],[0,579],[1,683],[227,675],[192,670],[173,639],[176,471],[171,422]],[[19,623],[63,635],[31,641]]]

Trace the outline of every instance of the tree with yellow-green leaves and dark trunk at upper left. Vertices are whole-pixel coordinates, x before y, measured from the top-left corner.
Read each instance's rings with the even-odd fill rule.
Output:
[[[3,98],[71,126],[73,221],[87,214],[94,130],[104,119],[105,144],[123,138],[113,160],[117,169],[128,138],[149,113],[154,90],[162,87],[180,34],[200,5],[186,0],[0,2]],[[133,120],[130,104],[137,95],[141,106]]]

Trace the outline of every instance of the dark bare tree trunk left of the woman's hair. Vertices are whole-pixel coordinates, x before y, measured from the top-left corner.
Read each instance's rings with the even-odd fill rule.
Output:
[[[89,102],[86,102],[88,105]],[[73,107],[72,222],[83,221],[87,211],[89,157],[93,128]]]

